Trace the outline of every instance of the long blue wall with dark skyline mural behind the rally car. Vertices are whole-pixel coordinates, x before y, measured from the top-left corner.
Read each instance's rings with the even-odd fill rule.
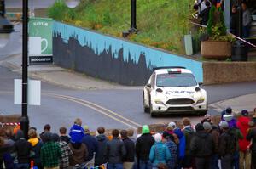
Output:
[[[185,66],[203,82],[199,61],[60,22],[53,25],[53,55],[56,65],[125,85],[145,84],[159,66]]]

